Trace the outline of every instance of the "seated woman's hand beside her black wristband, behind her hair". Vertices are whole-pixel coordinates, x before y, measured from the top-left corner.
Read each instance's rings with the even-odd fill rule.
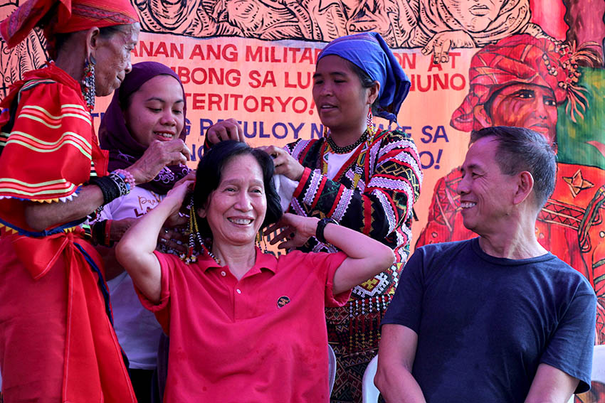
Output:
[[[301,247],[305,245],[310,237],[315,235],[317,222],[319,221],[315,217],[302,217],[302,215],[285,213],[277,223],[265,230],[264,235],[280,230],[269,242],[271,245],[281,242],[278,249]]]

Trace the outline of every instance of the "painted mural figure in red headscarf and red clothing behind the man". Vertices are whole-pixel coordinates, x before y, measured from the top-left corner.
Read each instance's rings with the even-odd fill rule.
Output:
[[[582,65],[600,63],[591,44],[576,49],[545,38],[517,35],[485,46],[470,63],[470,89],[451,119],[462,131],[490,126],[535,130],[557,145],[557,110],[582,122],[589,108]],[[557,109],[559,107],[559,109]],[[475,235],[462,224],[458,168],[441,178],[428,224],[416,247]],[[589,279],[599,297],[596,340],[605,342],[605,175],[596,166],[557,163],[554,193],[536,222],[540,244]]]

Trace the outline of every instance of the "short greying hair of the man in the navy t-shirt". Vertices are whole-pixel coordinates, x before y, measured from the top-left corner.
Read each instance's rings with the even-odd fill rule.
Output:
[[[494,126],[473,131],[470,143],[493,136],[498,141],[495,161],[505,175],[527,171],[534,178],[537,207],[542,208],[554,191],[557,176],[557,156],[551,144],[533,130],[525,127]]]

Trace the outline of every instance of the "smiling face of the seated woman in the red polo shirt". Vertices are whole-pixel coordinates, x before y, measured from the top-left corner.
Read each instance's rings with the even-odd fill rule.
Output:
[[[205,217],[214,245],[254,245],[267,212],[263,171],[250,154],[234,156],[221,171],[221,182],[212,191]]]

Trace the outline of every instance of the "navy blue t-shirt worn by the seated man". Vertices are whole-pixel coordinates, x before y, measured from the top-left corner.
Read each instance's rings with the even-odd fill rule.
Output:
[[[540,363],[589,389],[596,296],[553,254],[501,259],[479,238],[409,259],[382,324],[418,334],[412,375],[427,402],[523,402]]]

